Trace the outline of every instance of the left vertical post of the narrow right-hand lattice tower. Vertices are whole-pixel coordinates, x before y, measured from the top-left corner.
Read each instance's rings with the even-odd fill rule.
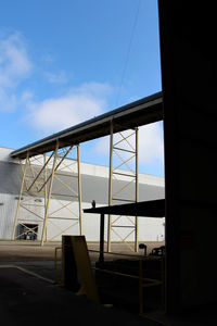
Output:
[[[111,121],[110,131],[110,179],[108,179],[108,205],[112,205],[112,172],[113,172],[113,121]],[[107,220],[107,252],[111,252],[111,226],[112,216]]]

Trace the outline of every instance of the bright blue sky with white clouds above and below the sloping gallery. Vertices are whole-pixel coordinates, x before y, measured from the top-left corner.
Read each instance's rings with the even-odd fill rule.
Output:
[[[17,149],[162,89],[156,0],[1,0],[0,146]],[[81,160],[108,164],[107,139]],[[140,172],[164,175],[162,123]]]

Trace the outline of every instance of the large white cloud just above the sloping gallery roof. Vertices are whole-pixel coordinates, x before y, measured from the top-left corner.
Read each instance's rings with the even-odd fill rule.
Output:
[[[31,103],[28,122],[43,134],[55,133],[103,113],[108,85],[87,83],[60,98]]]

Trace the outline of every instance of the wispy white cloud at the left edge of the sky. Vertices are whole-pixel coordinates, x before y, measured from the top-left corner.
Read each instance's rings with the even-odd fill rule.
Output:
[[[0,38],[0,111],[15,109],[17,85],[28,77],[31,63],[21,34]]]

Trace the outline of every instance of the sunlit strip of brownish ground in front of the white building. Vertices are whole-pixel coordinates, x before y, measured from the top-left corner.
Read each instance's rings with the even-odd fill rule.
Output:
[[[148,253],[153,248],[163,246],[163,242],[149,242]],[[56,276],[54,275],[55,248],[61,248],[61,242],[49,242],[43,247],[35,241],[0,241],[0,265],[16,265],[36,273],[41,277],[53,281],[61,280],[61,250],[58,250]],[[99,250],[99,243],[88,243],[88,249]],[[143,255],[143,250],[138,253],[130,251],[129,244],[113,243],[112,251],[124,254]],[[90,260],[97,261],[99,253],[90,252]],[[105,254],[106,260],[119,258],[113,254]]]

